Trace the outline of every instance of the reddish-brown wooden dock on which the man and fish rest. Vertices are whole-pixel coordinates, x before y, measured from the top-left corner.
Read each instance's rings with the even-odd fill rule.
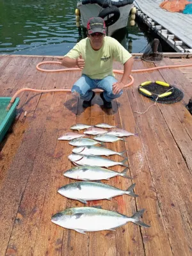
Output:
[[[40,61],[55,61],[42,56],[0,56],[0,95],[12,97],[20,88],[71,88],[79,72],[45,73],[36,70]],[[192,63],[191,59],[164,58],[160,63],[135,60],[133,69],[155,65]],[[46,68],[58,68],[56,64]],[[122,69],[115,63],[114,68]],[[188,70],[188,72],[186,71]],[[99,94],[91,108],[72,93],[31,93],[19,95],[18,116],[1,143],[0,155],[0,255],[63,256],[172,256],[192,254],[192,116],[186,104],[192,95],[192,77],[187,69],[162,69],[133,74],[133,86],[113,101],[113,109],[103,109]],[[118,75],[117,77],[120,77]],[[184,99],[175,104],[157,104],[139,115],[151,100],[138,93],[143,81],[175,84]],[[24,116],[24,113],[27,113]],[[89,202],[102,208],[132,216],[146,209],[143,221],[150,228],[127,223],[116,232],[90,232],[86,235],[51,222],[51,216],[67,207],[83,207],[57,193],[74,180],[63,177],[72,167],[68,155],[72,146],[58,141],[76,123],[119,125],[138,137],[127,143],[106,143],[118,152],[127,150],[130,175],[104,181],[127,189],[136,183],[138,198],[117,196],[113,200]],[[113,160],[120,156],[110,157]],[[111,168],[112,169],[112,168]],[[121,172],[123,166],[113,170]]]

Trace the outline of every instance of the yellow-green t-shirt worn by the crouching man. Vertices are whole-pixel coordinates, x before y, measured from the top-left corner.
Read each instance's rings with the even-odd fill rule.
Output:
[[[90,38],[84,38],[77,43],[65,56],[76,59],[81,54],[85,61],[82,73],[92,79],[103,79],[114,76],[113,61],[124,64],[132,55],[115,39],[104,37],[102,47],[95,51],[90,44]]]

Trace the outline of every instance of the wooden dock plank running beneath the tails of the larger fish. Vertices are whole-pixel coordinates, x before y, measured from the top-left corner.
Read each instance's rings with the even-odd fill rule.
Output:
[[[122,65],[115,63],[114,69],[122,70]],[[116,74],[116,79],[120,80],[122,75]],[[122,98],[122,97],[121,97]],[[117,104],[117,100],[113,100],[112,102],[113,109],[103,109],[104,111],[104,122],[111,125],[118,125],[120,127],[120,108],[122,106]],[[127,111],[127,109],[126,109]],[[111,150],[115,150],[116,152],[122,152],[126,150],[124,141],[116,141],[115,143],[106,143],[106,147]],[[125,157],[128,155],[125,154]],[[111,156],[113,161],[122,161],[124,158],[120,156]],[[127,161],[125,162],[128,163]],[[110,168],[111,170],[115,170],[118,172],[122,172],[125,169],[124,166],[114,166]],[[128,172],[129,173],[129,172]],[[131,175],[130,173],[128,175]],[[134,183],[134,180],[132,180]],[[132,184],[131,180],[124,179],[122,177],[115,177],[110,180],[111,186],[115,186],[120,189],[127,189]],[[137,186],[137,185],[136,185]],[[134,191],[136,191],[134,189]],[[136,192],[135,192],[136,193]],[[134,212],[136,212],[136,202],[135,198],[131,196],[123,195],[116,196],[113,198],[113,205],[111,211],[117,211],[127,216],[132,216]],[[116,252],[117,255],[144,255],[143,249],[143,241],[140,233],[140,228],[133,223],[127,223],[126,225],[116,228],[115,232],[116,237]]]

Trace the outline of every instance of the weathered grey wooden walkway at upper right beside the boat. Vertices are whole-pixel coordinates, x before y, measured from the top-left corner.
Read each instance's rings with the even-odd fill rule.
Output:
[[[136,15],[177,52],[192,52],[192,15],[168,12],[161,0],[137,0]]]

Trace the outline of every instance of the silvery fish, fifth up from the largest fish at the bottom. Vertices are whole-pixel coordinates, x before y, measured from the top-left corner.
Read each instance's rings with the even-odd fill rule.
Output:
[[[123,156],[127,150],[122,152],[115,152],[108,148],[97,147],[97,146],[86,146],[86,147],[76,147],[72,150],[73,153],[84,155],[84,156],[112,156],[118,155]]]

